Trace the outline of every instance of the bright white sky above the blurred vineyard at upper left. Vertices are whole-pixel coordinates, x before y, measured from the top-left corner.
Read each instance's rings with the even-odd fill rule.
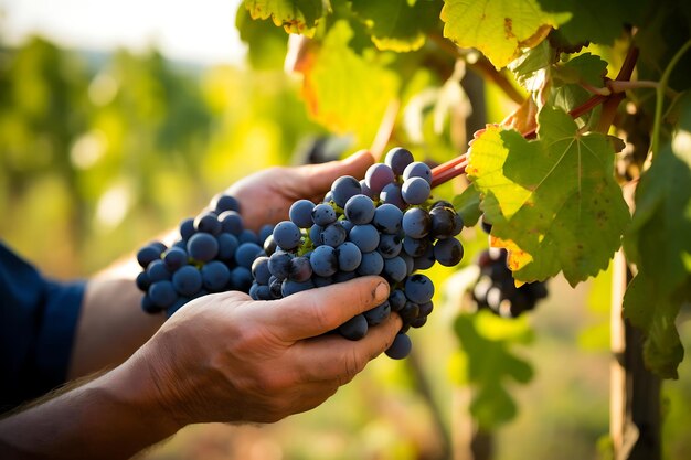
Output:
[[[0,0],[0,40],[40,33],[65,47],[109,51],[156,45],[166,56],[202,65],[238,63],[235,29],[242,0]]]

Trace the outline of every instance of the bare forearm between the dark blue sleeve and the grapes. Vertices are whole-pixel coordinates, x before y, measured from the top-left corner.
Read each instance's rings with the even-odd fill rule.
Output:
[[[141,310],[142,293],[135,285],[140,270],[132,256],[89,280],[68,379],[123,363],[163,323],[162,313],[152,315]]]

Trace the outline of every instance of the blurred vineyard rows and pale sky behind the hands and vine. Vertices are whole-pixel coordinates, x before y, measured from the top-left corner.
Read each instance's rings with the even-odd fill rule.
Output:
[[[53,277],[87,277],[252,171],[368,147],[310,119],[299,78],[284,72],[281,30],[247,52],[238,6],[1,0],[0,238]],[[485,96],[500,119],[491,88]],[[472,442],[497,460],[600,457],[608,274],[577,289],[551,280],[548,300],[517,321],[469,319],[460,287],[487,238],[467,228],[463,239],[460,270],[433,269],[435,313],[412,333],[410,360],[376,360],[309,414],[188,427],[138,458],[461,459]],[[474,416],[480,389],[455,332],[468,323],[488,347]],[[691,325],[680,328],[689,346]],[[679,371],[663,386],[668,459],[691,451],[688,360]]]

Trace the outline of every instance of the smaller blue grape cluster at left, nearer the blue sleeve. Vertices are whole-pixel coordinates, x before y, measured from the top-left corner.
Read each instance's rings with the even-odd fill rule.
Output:
[[[258,234],[243,225],[240,204],[231,195],[212,200],[209,210],[180,223],[180,238],[170,247],[152,242],[139,249],[142,271],[137,287],[145,292],[147,313],[170,317],[192,299],[211,292],[249,291],[252,264],[265,255],[264,243],[274,227]]]

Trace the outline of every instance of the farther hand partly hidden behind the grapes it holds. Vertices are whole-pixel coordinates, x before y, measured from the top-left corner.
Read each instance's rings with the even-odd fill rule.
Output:
[[[240,202],[245,227],[257,231],[288,218],[290,205],[298,200],[320,201],[341,175],[362,178],[373,162],[372,154],[361,150],[341,161],[274,167],[240,180],[226,193]]]

